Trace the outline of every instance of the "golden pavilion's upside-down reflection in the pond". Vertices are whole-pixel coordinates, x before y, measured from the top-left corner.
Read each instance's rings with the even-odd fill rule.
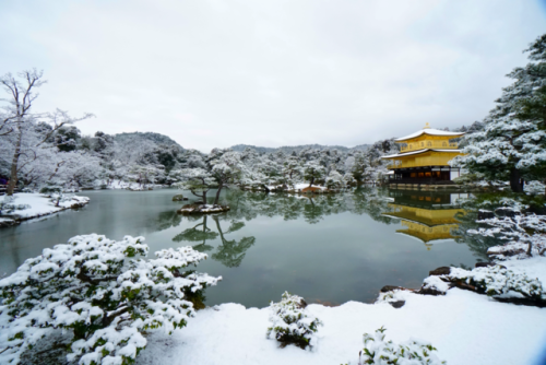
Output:
[[[434,244],[458,236],[452,231],[459,226],[456,213],[464,213],[458,199],[468,198],[467,193],[390,190],[392,210],[385,216],[400,219],[405,228],[397,233],[419,239],[430,249]]]

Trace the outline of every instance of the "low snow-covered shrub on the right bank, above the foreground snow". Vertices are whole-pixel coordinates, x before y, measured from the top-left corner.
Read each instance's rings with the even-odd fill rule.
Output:
[[[530,279],[501,266],[476,268],[472,271],[451,268],[450,273],[442,276],[450,281],[461,280],[490,296],[546,301],[546,291],[537,279]]]

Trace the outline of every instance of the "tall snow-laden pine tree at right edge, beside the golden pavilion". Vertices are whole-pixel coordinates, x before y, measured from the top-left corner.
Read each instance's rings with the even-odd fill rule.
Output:
[[[508,74],[514,82],[502,89],[485,127],[466,134],[465,155],[452,161],[490,180],[509,179],[514,192],[523,191],[523,179],[546,177],[546,34],[524,51],[531,62]]]

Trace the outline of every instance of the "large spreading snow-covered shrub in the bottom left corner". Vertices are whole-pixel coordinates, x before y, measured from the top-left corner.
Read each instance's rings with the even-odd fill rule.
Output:
[[[182,271],[206,258],[191,247],[134,258],[147,254],[143,240],[75,236],[0,280],[0,363],[17,364],[23,352],[62,329],[72,334],[69,361],[124,365],[146,345],[144,331],[185,327],[192,301],[222,278]]]

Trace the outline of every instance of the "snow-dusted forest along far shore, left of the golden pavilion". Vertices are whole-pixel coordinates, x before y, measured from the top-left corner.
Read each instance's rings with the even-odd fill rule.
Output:
[[[195,188],[200,193],[203,188],[233,184],[263,188],[307,181],[334,188],[378,180],[387,173],[381,156],[399,151],[392,140],[383,140],[366,149],[308,145],[263,152],[247,146],[204,154],[158,133],[82,136],[75,123],[93,115],[73,118],[62,110],[34,110],[36,90],[44,83],[41,72],[7,74],[0,83],[8,96],[0,111],[0,176],[10,180],[8,195],[51,186],[108,188],[120,181],[170,186],[193,179],[195,188],[195,176],[209,179],[206,187]]]

